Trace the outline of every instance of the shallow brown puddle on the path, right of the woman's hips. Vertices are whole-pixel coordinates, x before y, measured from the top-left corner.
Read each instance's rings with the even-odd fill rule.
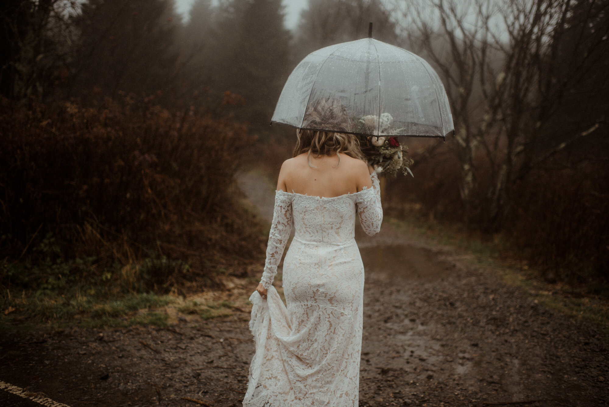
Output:
[[[382,280],[437,281],[451,277],[454,267],[438,260],[438,253],[407,244],[361,247],[364,269]]]

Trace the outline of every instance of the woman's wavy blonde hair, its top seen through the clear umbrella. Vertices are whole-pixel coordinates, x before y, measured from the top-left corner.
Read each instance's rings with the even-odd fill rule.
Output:
[[[292,157],[306,152],[309,166],[314,167],[311,164],[311,155],[317,158],[322,155],[336,154],[339,157],[339,163],[336,166],[340,164],[339,153],[366,160],[357,137],[353,134],[342,133],[351,131],[351,120],[347,108],[339,99],[326,97],[309,105],[303,120],[303,127],[334,130],[299,130],[297,132],[298,141]]]

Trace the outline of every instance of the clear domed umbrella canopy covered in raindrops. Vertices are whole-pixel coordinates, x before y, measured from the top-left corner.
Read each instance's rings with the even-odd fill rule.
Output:
[[[348,128],[311,117],[340,104]],[[423,58],[364,38],[311,52],[288,77],[271,122],[370,136],[442,137],[454,132],[442,81]]]

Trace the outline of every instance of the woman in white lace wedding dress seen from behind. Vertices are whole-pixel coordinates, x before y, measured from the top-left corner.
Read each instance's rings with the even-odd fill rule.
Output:
[[[294,158],[281,166],[262,280],[253,292],[250,330],[256,353],[245,407],[354,407],[359,400],[364,266],[355,242],[356,213],[379,232],[376,172],[338,102],[321,101],[297,131]],[[287,307],[272,286],[290,229],[283,265]]]

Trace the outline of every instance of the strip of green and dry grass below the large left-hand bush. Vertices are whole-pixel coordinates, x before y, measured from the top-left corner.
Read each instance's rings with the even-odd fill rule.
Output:
[[[45,246],[43,246],[45,245]],[[167,314],[159,308],[179,302],[168,293],[177,281],[158,276],[191,271],[189,264],[166,257],[144,258],[125,266],[100,267],[95,257],[64,260],[63,251],[51,235],[39,250],[44,257],[29,261],[0,262],[0,274],[10,288],[0,297],[2,333],[28,333],[78,325],[81,328],[167,325]],[[228,274],[210,265],[215,275]],[[167,278],[169,280],[169,278]],[[209,319],[231,314],[230,305],[210,304],[197,311]]]

